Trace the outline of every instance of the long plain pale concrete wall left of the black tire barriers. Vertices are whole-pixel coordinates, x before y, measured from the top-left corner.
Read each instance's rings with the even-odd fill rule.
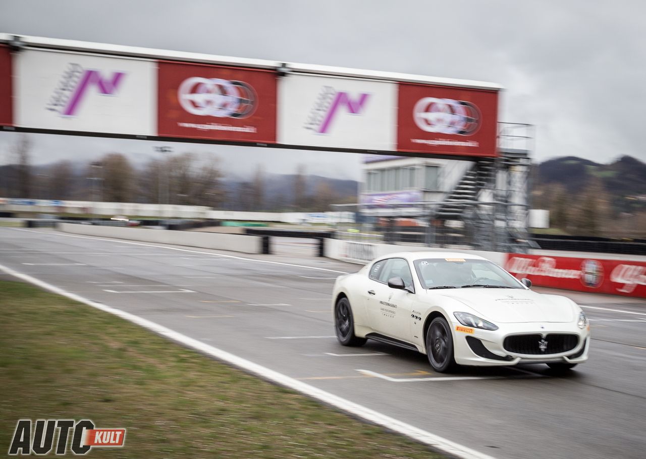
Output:
[[[186,245],[202,249],[231,250],[247,254],[262,253],[260,236],[242,236],[240,234],[220,234],[213,232],[154,230],[143,228],[102,227],[95,225],[77,225],[61,223],[58,229],[73,234],[116,238],[129,241],[153,242],[160,244]]]

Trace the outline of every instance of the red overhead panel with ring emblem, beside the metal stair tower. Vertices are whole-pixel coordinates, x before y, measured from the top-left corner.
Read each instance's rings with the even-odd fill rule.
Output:
[[[397,150],[496,156],[498,93],[399,83]]]

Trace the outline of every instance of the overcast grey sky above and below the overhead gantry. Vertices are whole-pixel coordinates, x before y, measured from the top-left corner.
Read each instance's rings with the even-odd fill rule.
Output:
[[[533,157],[646,161],[646,3],[435,0],[0,0],[0,32],[493,81],[500,121],[536,125]],[[16,134],[0,133],[0,162]],[[153,143],[32,134],[38,162]],[[159,144],[157,144],[159,145]],[[174,144],[236,174],[358,178],[358,154]]]

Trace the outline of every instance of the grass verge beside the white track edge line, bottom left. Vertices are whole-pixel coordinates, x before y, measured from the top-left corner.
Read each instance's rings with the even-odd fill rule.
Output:
[[[25,283],[0,281],[0,314],[0,451],[20,418],[89,418],[128,429],[97,458],[443,457]]]

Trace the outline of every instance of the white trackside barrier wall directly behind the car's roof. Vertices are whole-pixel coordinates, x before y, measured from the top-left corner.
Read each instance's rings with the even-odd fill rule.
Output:
[[[366,242],[342,241],[328,239],[325,243],[325,256],[335,260],[349,261],[350,263],[365,264],[374,258],[386,256],[395,252],[422,252],[433,250],[438,252],[462,252],[473,254],[493,261],[497,265],[505,264],[506,254],[500,252],[485,252],[483,250],[435,249],[410,245],[376,244]]]

